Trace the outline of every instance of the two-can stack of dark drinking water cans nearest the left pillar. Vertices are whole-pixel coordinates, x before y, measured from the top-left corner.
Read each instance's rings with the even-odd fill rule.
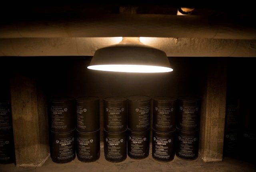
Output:
[[[53,162],[66,163],[76,158],[76,114],[73,97],[52,98],[51,158]]]

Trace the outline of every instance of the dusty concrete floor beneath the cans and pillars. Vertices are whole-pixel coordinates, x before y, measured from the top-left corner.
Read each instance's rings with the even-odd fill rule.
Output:
[[[14,164],[0,164],[0,172],[256,172],[256,165],[226,157],[222,162],[203,162],[200,157],[196,160],[183,160],[174,157],[170,162],[160,162],[149,156],[134,160],[127,156],[122,162],[108,162],[104,158],[104,149],[101,148],[100,158],[95,162],[73,161],[58,164],[48,158],[40,167],[16,167]]]

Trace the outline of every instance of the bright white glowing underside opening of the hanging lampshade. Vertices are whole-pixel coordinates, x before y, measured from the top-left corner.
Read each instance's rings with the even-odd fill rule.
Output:
[[[134,73],[162,73],[172,72],[172,68],[161,66],[146,66],[146,65],[128,65],[128,64],[109,64],[109,65],[94,65],[88,66],[88,69],[112,71],[112,72],[134,72]]]

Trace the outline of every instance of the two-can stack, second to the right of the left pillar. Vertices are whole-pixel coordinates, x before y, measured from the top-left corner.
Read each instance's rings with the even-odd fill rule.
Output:
[[[76,98],[76,155],[82,162],[100,158],[100,98]]]

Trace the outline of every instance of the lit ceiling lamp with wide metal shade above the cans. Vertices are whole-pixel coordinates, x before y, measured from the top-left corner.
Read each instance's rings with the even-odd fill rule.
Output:
[[[142,44],[137,37],[124,37],[118,44],[96,50],[87,68],[138,73],[173,71],[165,52]]]

